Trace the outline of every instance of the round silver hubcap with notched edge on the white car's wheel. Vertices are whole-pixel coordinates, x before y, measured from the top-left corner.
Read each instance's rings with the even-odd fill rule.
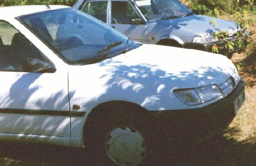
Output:
[[[119,165],[137,165],[146,155],[145,139],[131,127],[117,127],[107,134],[105,149],[109,158]]]

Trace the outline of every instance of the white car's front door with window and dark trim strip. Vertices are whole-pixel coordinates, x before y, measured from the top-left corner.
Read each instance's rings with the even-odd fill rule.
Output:
[[[55,66],[7,21],[0,20],[0,38],[0,135],[69,138],[65,67]],[[48,63],[53,70],[28,69],[25,62],[31,59]]]

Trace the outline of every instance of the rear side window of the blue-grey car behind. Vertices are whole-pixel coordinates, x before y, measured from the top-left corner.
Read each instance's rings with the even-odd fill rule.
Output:
[[[108,1],[94,1],[85,4],[82,11],[106,23]]]

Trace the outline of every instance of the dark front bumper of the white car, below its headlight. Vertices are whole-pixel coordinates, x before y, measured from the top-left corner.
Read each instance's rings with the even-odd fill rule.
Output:
[[[172,143],[199,143],[223,130],[235,118],[234,101],[245,90],[241,79],[225,98],[203,108],[150,112],[159,125],[161,139]]]

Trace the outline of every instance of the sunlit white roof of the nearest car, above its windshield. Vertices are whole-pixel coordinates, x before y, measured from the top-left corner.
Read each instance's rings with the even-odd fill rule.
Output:
[[[49,7],[49,8],[48,8]],[[0,7],[0,19],[14,18],[22,15],[33,14],[40,11],[69,8],[65,5],[21,5],[12,7]]]

